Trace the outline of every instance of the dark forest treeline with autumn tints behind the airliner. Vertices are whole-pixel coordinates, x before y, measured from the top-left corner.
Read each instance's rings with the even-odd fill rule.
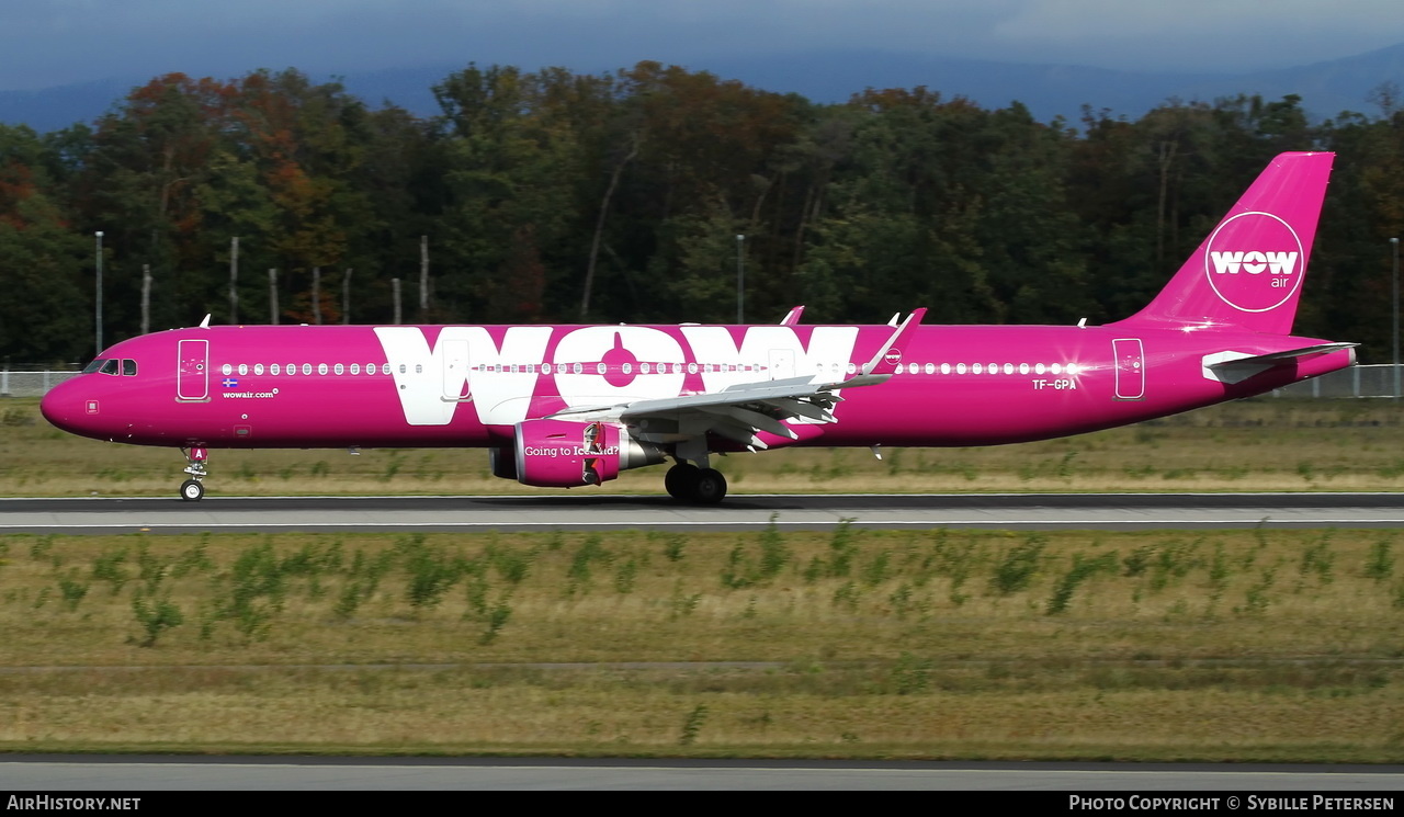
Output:
[[[152,330],[389,323],[395,279],[404,323],[731,321],[743,264],[755,323],[796,303],[814,323],[1101,323],[1272,156],[1310,149],[1338,157],[1296,330],[1391,355],[1387,86],[1376,114],[1323,124],[1296,97],[1080,122],[924,87],[814,104],[651,62],[469,65],[434,94],[421,118],[291,69],[168,74],[93,124],[0,125],[0,358],[94,354],[100,230],[108,344],[142,328],[143,272]]]

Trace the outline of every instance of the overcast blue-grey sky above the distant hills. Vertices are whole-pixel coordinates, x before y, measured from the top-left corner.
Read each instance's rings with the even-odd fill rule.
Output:
[[[1207,73],[1400,42],[1400,0],[0,0],[0,90],[469,60],[706,69],[820,49]]]

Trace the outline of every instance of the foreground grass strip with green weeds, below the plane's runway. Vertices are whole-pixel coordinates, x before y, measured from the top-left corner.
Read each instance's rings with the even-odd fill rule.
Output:
[[[1400,762],[1396,539],[4,536],[0,751]]]

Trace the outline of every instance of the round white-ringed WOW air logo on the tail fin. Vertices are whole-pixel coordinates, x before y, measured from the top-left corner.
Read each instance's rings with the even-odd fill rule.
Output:
[[[1268,312],[1302,285],[1306,251],[1292,225],[1272,213],[1224,219],[1205,246],[1205,275],[1220,300],[1243,312]]]

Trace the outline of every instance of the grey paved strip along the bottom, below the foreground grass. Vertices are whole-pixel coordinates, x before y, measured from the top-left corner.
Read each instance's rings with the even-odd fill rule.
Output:
[[[1068,810],[1059,792],[1122,792],[1119,809],[1102,809],[1116,811],[1327,809],[1325,799],[1351,792],[1369,796],[1370,809],[1393,811],[1400,803],[1393,793],[1404,792],[1400,766],[664,758],[17,755],[0,761],[0,779],[14,792],[51,796],[143,792],[145,810],[184,803],[156,792],[979,790],[1019,792],[1021,804],[1059,810]],[[1165,792],[1188,793],[1196,804],[1154,800]],[[1223,795],[1209,803],[1206,792]],[[1285,792],[1307,804],[1296,797],[1283,804]]]

